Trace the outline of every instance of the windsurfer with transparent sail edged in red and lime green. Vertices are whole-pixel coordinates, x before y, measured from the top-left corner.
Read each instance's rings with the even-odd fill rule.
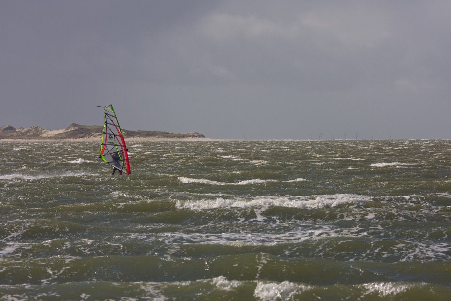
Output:
[[[129,175],[132,172],[130,171],[128,149],[125,146],[124,136],[113,106],[103,107],[103,112],[105,124],[103,125],[99,157],[114,167],[113,173],[118,170],[120,175],[122,172]]]

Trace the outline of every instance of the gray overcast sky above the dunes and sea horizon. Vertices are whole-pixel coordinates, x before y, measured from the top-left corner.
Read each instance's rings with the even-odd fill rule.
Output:
[[[449,0],[0,0],[0,126],[451,139]],[[335,133],[335,134],[334,134]]]

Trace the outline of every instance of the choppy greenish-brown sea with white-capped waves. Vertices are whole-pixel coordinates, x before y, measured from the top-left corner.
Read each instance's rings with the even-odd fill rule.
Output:
[[[449,140],[127,147],[0,142],[0,300],[450,300]]]

